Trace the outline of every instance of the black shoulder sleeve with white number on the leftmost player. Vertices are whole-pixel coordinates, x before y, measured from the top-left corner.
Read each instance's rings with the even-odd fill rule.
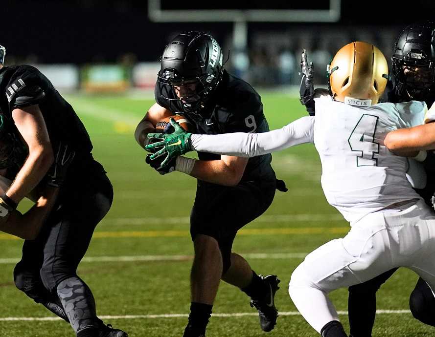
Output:
[[[19,69],[11,77],[6,88],[10,110],[42,103],[46,98],[47,84],[34,67]]]

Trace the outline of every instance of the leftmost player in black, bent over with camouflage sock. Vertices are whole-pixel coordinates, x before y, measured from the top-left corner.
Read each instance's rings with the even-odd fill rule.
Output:
[[[19,154],[11,154],[18,159],[4,165],[6,177],[13,179],[1,196],[4,207],[15,210],[25,196],[46,184],[55,158],[65,159],[53,149],[68,147],[75,152],[55,208],[37,238],[24,241],[15,284],[69,321],[78,337],[126,337],[96,316],[91,290],[76,273],[95,226],[110,209],[112,184],[92,158],[92,143],[82,122],[50,81],[33,66],[3,66],[3,60],[0,113],[8,122],[13,152]]]

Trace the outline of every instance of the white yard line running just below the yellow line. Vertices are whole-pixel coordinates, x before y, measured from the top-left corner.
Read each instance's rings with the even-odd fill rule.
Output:
[[[304,258],[308,253],[242,253],[249,259]],[[1,258],[0,264],[15,264],[21,258]],[[193,255],[127,255],[127,256],[85,256],[82,262],[135,262],[135,261],[186,261]]]

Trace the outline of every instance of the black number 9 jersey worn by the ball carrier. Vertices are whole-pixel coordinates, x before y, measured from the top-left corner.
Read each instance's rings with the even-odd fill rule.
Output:
[[[163,95],[175,98],[168,87]],[[156,102],[174,112],[183,114],[172,101],[164,99],[160,92],[159,83],[155,87]],[[201,118],[193,118],[188,113],[183,116],[194,126],[197,134],[221,134],[230,132],[267,132],[269,125],[263,113],[263,104],[260,95],[245,81],[224,71],[222,82],[219,84],[213,97],[201,109]],[[201,160],[219,160],[220,155],[198,152]],[[275,172],[270,163],[271,154],[250,158],[242,180],[275,179]]]

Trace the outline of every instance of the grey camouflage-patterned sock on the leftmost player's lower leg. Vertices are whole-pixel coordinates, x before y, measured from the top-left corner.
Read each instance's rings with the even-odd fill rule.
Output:
[[[59,283],[57,295],[77,336],[82,330],[98,329],[92,292],[78,276],[69,277]]]

